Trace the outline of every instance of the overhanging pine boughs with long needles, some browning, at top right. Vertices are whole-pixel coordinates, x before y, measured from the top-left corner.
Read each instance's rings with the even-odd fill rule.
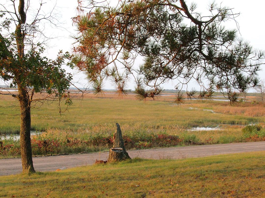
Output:
[[[212,3],[203,16],[195,3],[184,0],[85,3],[79,2],[83,14],[73,18],[78,30],[73,63],[96,93],[106,79],[117,93],[126,93],[133,79],[137,97],[146,100],[160,95],[165,82],[176,82],[182,90],[195,81],[201,86],[199,98],[210,98],[217,90],[236,101],[238,91],[259,82],[264,52],[239,38],[237,30],[224,28],[223,22],[239,15],[228,7]],[[187,92],[188,97],[195,93]],[[182,99],[179,92],[176,102]]]

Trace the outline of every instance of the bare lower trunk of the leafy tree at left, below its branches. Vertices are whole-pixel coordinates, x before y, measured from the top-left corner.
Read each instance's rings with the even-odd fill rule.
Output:
[[[20,102],[20,149],[23,173],[35,172],[32,161],[30,141],[30,101],[23,86],[18,85],[18,100]]]

